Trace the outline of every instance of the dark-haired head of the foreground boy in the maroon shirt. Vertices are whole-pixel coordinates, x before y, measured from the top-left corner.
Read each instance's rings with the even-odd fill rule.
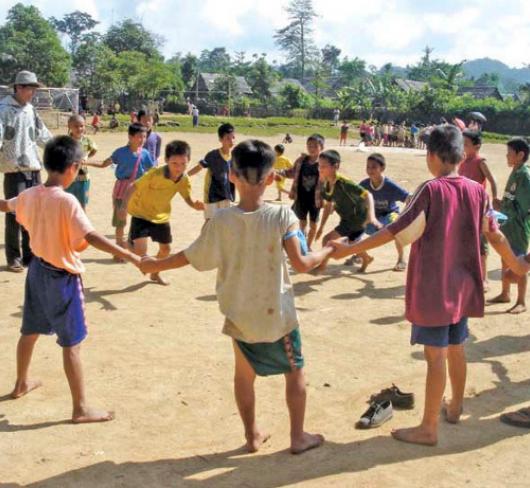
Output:
[[[427,142],[427,165],[433,175],[452,171],[462,161],[463,139],[462,132],[454,125],[438,125],[432,130]],[[450,165],[451,168],[446,168],[445,165]]]

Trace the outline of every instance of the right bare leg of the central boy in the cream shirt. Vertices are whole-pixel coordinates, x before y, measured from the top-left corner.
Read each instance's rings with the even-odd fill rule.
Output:
[[[301,454],[321,446],[324,442],[322,435],[304,432],[306,390],[302,369],[285,375],[285,397],[291,419],[291,453]]]

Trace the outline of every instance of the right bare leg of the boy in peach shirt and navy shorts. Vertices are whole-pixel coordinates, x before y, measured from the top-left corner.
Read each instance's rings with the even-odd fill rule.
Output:
[[[63,348],[63,365],[72,394],[72,422],[74,424],[84,424],[112,420],[114,418],[112,412],[90,408],[86,404],[80,344]]]

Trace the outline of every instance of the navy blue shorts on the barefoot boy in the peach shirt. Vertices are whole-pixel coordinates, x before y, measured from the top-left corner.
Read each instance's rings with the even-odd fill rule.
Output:
[[[79,344],[87,335],[81,276],[34,257],[26,277],[20,332],[57,334],[61,347]]]

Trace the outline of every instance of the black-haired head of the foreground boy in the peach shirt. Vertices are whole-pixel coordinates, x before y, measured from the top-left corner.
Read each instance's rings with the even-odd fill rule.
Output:
[[[70,136],[57,136],[44,148],[44,167],[48,174],[55,173],[61,178],[64,188],[70,186],[83,160],[81,145]]]

